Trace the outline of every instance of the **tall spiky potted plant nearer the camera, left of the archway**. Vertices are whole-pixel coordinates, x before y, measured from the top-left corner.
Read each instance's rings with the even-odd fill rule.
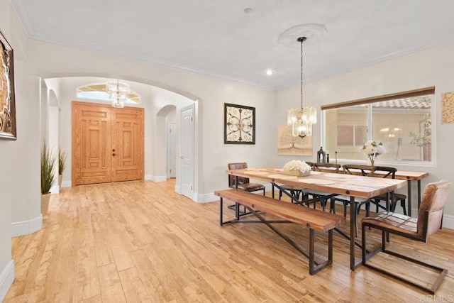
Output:
[[[44,142],[41,150],[41,214],[45,216],[49,209],[50,187],[55,179],[54,167],[57,157]]]

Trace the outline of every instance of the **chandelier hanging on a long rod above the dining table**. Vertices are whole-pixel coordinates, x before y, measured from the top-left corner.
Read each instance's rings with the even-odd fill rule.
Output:
[[[303,107],[303,42],[306,37],[299,37],[301,42],[301,108],[289,109],[287,125],[292,126],[294,137],[312,136],[312,125],[317,123],[317,111],[314,107]]]

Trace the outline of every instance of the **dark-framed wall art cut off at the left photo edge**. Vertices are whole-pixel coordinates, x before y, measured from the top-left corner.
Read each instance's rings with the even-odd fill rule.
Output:
[[[13,48],[0,31],[0,139],[16,140]]]

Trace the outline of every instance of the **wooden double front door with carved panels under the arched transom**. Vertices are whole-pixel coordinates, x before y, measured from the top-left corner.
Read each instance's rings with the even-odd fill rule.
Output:
[[[72,184],[143,180],[143,109],[72,103]]]

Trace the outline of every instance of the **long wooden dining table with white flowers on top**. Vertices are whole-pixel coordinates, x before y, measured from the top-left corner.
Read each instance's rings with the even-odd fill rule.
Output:
[[[350,196],[350,235],[336,231],[350,240],[350,269],[355,270],[360,262],[355,260],[355,246],[361,247],[355,239],[356,204],[355,198],[370,199],[380,194],[387,194],[406,186],[406,180],[387,179],[381,177],[363,177],[360,175],[345,175],[332,172],[311,172],[306,177],[285,175],[282,169],[276,167],[253,167],[243,170],[226,170],[226,173],[235,177],[247,177],[270,182],[274,187],[282,189],[281,184],[291,187],[314,189],[332,194]],[[238,182],[238,180],[236,180]],[[282,189],[284,190],[284,189]],[[291,196],[290,196],[291,197]],[[286,202],[282,202],[286,203]]]

